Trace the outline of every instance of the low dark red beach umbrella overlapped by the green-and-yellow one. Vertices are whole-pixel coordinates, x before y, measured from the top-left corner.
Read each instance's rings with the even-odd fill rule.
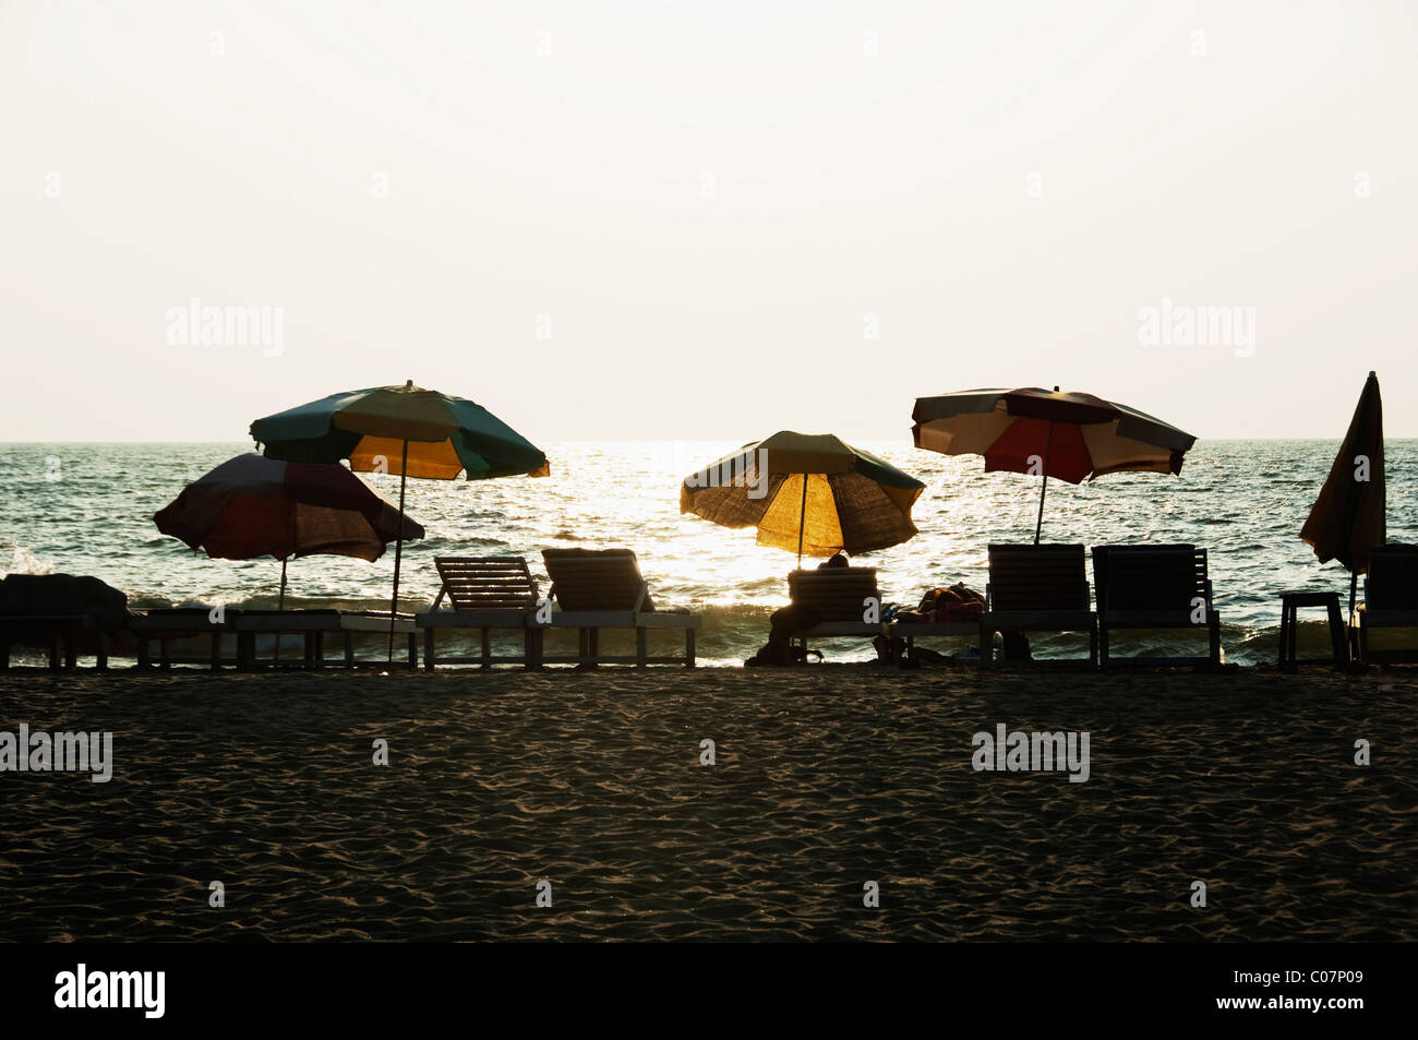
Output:
[[[320,553],[376,560],[397,538],[424,529],[343,465],[282,463],[247,453],[183,488],[153,522],[164,535],[221,559]]]

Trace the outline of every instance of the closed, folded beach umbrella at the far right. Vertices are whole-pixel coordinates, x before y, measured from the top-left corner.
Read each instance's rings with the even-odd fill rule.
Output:
[[[1368,551],[1387,539],[1385,514],[1384,402],[1378,376],[1370,372],[1330,475],[1300,528],[1300,538],[1320,563],[1337,559],[1349,568],[1350,614],[1358,597],[1358,576],[1368,573]]]

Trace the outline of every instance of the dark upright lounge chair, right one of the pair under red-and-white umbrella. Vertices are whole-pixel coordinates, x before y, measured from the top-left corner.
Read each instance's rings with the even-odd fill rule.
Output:
[[[1093,590],[1099,661],[1105,668],[1113,664],[1221,664],[1221,616],[1211,603],[1205,549],[1193,545],[1093,546]],[[1109,637],[1115,629],[1204,629],[1207,654],[1112,657]]]

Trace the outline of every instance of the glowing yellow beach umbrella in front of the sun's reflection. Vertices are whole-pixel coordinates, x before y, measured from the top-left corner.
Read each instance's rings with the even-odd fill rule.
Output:
[[[686,477],[679,512],[757,528],[759,545],[795,548],[801,566],[803,553],[855,555],[912,538],[910,507],[925,487],[832,434],[784,430]]]

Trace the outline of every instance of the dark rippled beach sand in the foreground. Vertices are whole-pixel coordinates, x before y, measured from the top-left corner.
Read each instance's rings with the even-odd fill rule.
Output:
[[[1415,680],[13,673],[0,729],[115,766],[0,773],[0,934],[1412,941]],[[1088,731],[1088,782],[976,772],[998,722]]]

